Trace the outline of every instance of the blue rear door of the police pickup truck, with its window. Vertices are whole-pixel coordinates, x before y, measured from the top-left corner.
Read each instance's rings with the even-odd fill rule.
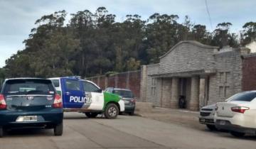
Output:
[[[85,92],[79,79],[62,78],[63,108],[80,109],[85,103]]]

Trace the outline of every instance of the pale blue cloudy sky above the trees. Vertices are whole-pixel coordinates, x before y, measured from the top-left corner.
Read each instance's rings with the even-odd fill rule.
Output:
[[[95,12],[100,6],[114,13],[116,21],[124,21],[127,14],[139,14],[146,20],[153,13],[166,13],[178,15],[182,22],[188,15],[192,23],[206,25],[208,31],[218,23],[230,22],[231,31],[238,33],[246,22],[256,21],[255,0],[0,0],[0,67],[24,49],[23,40],[41,16],[65,10],[68,19],[70,13],[86,9]]]

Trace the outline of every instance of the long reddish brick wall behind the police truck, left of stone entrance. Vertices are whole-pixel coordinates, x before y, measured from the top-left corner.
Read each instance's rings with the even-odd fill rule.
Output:
[[[131,72],[122,72],[106,77],[105,75],[86,78],[95,82],[101,89],[107,87],[117,87],[123,89],[131,89],[134,95],[139,99],[140,95],[140,70]]]

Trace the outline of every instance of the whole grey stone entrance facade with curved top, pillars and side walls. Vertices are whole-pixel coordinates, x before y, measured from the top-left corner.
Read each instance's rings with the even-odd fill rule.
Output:
[[[172,100],[177,98],[174,94],[176,91],[172,89],[172,86],[174,86],[172,79],[175,77],[187,78],[186,101],[190,106],[189,109],[196,110],[198,106],[224,101],[229,96],[242,91],[242,71],[245,72],[250,68],[250,64],[256,62],[256,58],[253,60],[245,58],[248,62],[244,62],[245,68],[243,69],[245,70],[242,70],[242,56],[248,53],[250,51],[245,48],[233,49],[226,47],[218,50],[216,47],[193,41],[178,43],[160,57],[159,64],[146,66],[146,101],[151,101],[157,106],[173,108],[171,106],[175,106],[176,103],[172,102],[176,101]],[[193,75],[191,73],[198,70],[206,72],[210,70],[210,73],[208,75]],[[253,67],[251,71],[253,71]],[[174,75],[169,77],[170,74]],[[179,74],[183,74],[183,76],[179,76]],[[253,74],[253,72],[250,74]],[[250,77],[250,74],[244,73],[244,76]],[[191,77],[195,76],[198,79],[194,79],[192,85]],[[152,80],[155,80],[154,77],[157,78],[156,85],[152,85]],[[200,83],[199,78],[201,77],[206,79],[202,79]],[[249,82],[246,77],[244,78],[244,82]],[[204,94],[198,94],[199,84],[204,84],[201,87],[201,90],[205,92]],[[244,88],[246,88],[245,86]],[[251,89],[253,86],[256,86],[256,77],[255,84],[252,83],[250,87],[247,85],[246,89]],[[152,87],[156,87],[156,94],[152,94]],[[198,96],[200,96],[200,101],[198,101]]]

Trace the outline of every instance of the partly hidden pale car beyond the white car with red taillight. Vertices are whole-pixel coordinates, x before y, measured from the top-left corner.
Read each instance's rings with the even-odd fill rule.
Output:
[[[215,131],[214,114],[216,104],[203,106],[200,109],[199,123],[205,124],[211,131]]]

